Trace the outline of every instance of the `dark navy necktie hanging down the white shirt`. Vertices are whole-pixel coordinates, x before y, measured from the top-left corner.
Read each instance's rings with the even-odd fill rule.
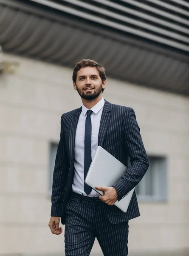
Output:
[[[85,120],[85,160],[84,160],[84,180],[89,170],[92,158],[91,158],[91,133],[92,133],[92,125],[90,115],[93,111],[87,111],[87,117]],[[84,191],[88,195],[91,192],[92,188],[85,184],[84,182]]]

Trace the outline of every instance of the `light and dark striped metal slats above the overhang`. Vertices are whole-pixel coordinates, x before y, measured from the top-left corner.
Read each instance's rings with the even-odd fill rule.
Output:
[[[189,3],[183,0],[180,0],[180,4],[178,0],[30,0],[30,2],[50,7],[96,26],[114,29],[124,35],[130,34],[189,53]]]

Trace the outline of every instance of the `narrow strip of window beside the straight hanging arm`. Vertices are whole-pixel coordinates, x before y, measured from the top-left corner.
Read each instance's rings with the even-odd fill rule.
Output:
[[[52,194],[52,183],[53,183],[53,172],[54,172],[54,164],[56,158],[56,151],[58,148],[57,143],[50,143],[50,156],[49,156],[49,195]]]

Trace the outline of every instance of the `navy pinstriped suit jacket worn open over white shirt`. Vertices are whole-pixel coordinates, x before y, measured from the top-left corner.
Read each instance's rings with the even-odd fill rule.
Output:
[[[61,117],[60,141],[56,153],[51,216],[61,216],[65,224],[65,207],[72,191],[74,174],[74,142],[76,127],[82,108],[65,113]],[[114,105],[105,100],[99,128],[98,145],[128,167],[121,180],[115,184],[118,200],[121,200],[142,179],[149,163],[144,149],[140,128],[132,108]],[[116,170],[115,170],[116,172]],[[107,218],[113,224],[121,223],[140,215],[135,192],[127,212],[105,204]]]

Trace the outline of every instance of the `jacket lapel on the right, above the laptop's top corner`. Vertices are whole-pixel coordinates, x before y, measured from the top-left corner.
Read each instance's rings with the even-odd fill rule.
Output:
[[[111,103],[105,100],[101,121],[100,121],[100,128],[99,128],[99,138],[98,138],[99,146],[102,146],[103,144],[104,137],[106,135],[108,124],[110,121],[110,113],[111,113]]]

